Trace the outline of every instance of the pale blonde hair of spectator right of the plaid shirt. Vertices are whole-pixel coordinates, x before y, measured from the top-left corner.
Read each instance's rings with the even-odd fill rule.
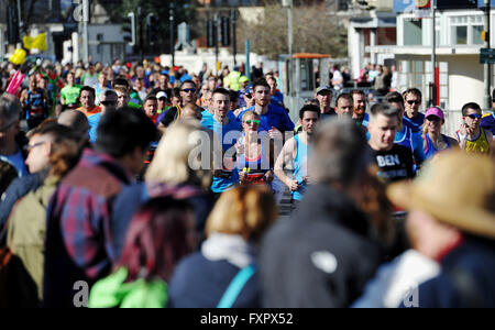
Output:
[[[199,153],[197,157],[190,157],[191,152],[198,147],[195,144],[196,136],[200,138],[200,135],[194,135],[195,133],[208,135],[209,141],[207,141],[206,151],[209,153],[210,161],[207,166],[201,166],[204,153]],[[188,183],[208,189],[211,185],[213,160],[212,143],[210,142],[212,142],[211,132],[202,129],[198,121],[184,121],[173,124],[160,141],[153,161],[145,174],[146,182],[173,185]]]

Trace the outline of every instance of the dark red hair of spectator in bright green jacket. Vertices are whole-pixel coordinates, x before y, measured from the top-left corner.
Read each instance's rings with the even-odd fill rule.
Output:
[[[187,210],[193,210],[189,204],[172,197],[153,198],[140,207],[129,224],[118,263],[118,267],[128,268],[127,282],[169,279],[177,262],[193,252],[187,244]]]

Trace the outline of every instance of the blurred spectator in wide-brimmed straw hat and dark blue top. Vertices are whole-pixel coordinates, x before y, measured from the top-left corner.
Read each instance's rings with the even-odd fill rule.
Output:
[[[411,245],[441,266],[440,274],[419,285],[413,301],[403,307],[494,308],[493,160],[444,152],[414,183],[392,185],[388,197],[410,211]]]

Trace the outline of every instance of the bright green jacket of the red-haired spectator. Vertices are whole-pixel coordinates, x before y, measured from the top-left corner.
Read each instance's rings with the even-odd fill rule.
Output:
[[[167,304],[167,284],[162,279],[140,278],[124,283],[128,270],[119,268],[98,280],[89,294],[89,308],[164,308]]]

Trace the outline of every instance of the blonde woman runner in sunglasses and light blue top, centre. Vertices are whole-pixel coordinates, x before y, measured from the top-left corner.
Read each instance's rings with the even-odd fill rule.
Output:
[[[242,135],[235,145],[238,152],[238,172],[241,185],[265,185],[271,186],[274,173],[270,168],[268,136],[261,139],[257,133],[260,128],[260,114],[248,111],[242,117]],[[264,141],[266,144],[264,145]]]

